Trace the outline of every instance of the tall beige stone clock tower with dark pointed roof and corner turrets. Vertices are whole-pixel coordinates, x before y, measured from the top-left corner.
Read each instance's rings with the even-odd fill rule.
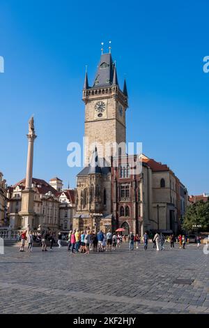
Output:
[[[121,154],[125,152],[127,98],[126,83],[124,82],[123,91],[121,91],[118,84],[116,65],[112,60],[111,53],[102,54],[93,87],[88,85],[87,73],[84,81],[83,100],[85,103],[86,137],[84,152],[86,165],[91,161],[91,155],[95,147],[98,149],[99,157],[105,156],[107,148],[109,148],[112,155],[116,155],[116,144],[121,148]],[[122,147],[121,143],[123,143]]]

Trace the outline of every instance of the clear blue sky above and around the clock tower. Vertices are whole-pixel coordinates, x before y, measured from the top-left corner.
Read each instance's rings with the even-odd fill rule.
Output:
[[[84,135],[85,66],[93,82],[100,43],[112,41],[127,79],[127,141],[167,163],[190,194],[209,192],[209,4],[205,1],[1,0],[0,171],[26,171],[26,132],[35,114],[33,176],[75,186],[67,144]]]

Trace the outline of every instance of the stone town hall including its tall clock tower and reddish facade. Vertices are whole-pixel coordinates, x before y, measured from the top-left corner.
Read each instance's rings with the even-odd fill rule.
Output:
[[[133,155],[131,161],[139,161],[141,171],[130,165],[125,152],[127,87],[126,82],[123,90],[119,87],[110,52],[100,57],[93,87],[86,73],[83,100],[86,166],[77,174],[73,228],[176,233],[185,214],[187,189],[167,165],[143,154]],[[109,156],[104,151],[107,144]]]

